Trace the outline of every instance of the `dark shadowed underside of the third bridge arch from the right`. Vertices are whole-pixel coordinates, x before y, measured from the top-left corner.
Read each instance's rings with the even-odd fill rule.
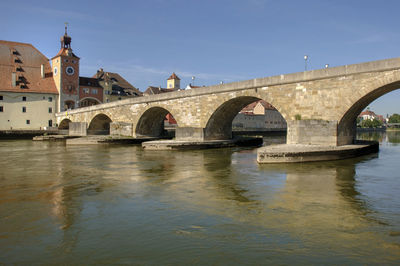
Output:
[[[140,117],[135,133],[137,137],[163,137],[167,133],[164,130],[164,120],[170,112],[162,107],[151,107]],[[172,114],[171,114],[172,115]]]

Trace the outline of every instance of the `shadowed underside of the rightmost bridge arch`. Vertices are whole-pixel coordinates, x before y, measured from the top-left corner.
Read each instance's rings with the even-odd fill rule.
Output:
[[[338,123],[337,145],[353,144],[356,140],[357,117],[370,103],[379,97],[400,88],[400,81],[376,88],[358,101],[346,111]]]

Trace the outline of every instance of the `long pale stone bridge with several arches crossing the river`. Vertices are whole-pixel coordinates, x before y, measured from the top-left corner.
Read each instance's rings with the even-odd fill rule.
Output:
[[[356,118],[372,101],[400,87],[400,58],[257,78],[131,98],[57,113],[57,123],[87,129],[127,126],[127,135],[157,137],[171,113],[177,140],[224,140],[249,103],[272,104],[287,122],[287,144],[352,144]]]

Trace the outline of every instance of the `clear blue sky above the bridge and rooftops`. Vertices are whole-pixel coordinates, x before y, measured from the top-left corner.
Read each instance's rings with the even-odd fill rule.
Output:
[[[400,1],[142,0],[8,1],[0,39],[32,43],[57,54],[64,22],[81,58],[81,76],[117,72],[140,90],[266,77],[325,64],[340,66],[399,57]],[[400,90],[372,103],[400,113]]]

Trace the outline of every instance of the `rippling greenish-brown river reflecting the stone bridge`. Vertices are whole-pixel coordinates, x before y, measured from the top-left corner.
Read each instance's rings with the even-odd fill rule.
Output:
[[[358,138],[379,154],[0,141],[0,264],[398,264],[400,132]]]

